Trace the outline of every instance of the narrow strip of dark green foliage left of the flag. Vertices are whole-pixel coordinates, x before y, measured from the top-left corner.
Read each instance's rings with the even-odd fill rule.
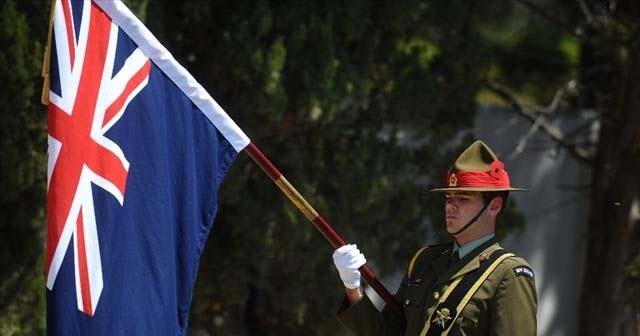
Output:
[[[47,5],[0,4],[0,334],[44,330],[46,131],[40,69]],[[39,13],[33,20],[25,13]],[[40,18],[40,20],[38,19]],[[42,23],[40,30],[30,23]]]

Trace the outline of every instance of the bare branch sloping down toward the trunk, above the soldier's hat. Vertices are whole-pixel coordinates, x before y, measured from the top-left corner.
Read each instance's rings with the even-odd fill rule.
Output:
[[[589,155],[589,153],[584,148],[578,146],[575,143],[568,141],[565,138],[564,134],[562,134],[562,131],[560,131],[560,129],[550,124],[544,118],[544,115],[542,113],[536,113],[529,108],[523,107],[515,98],[515,95],[500,84],[497,84],[491,80],[486,80],[485,86],[489,90],[497,94],[500,98],[505,100],[509,105],[511,105],[511,108],[516,113],[525,117],[526,119],[528,119],[530,122],[534,124],[534,126],[532,127],[532,130],[529,131],[529,134],[527,134],[523,139],[520,140],[521,142],[525,141],[525,144],[526,144],[526,140],[527,138],[531,137],[530,134],[532,133],[532,131],[535,132],[535,130],[539,128],[544,133],[546,133],[553,141],[555,141],[561,147],[569,151],[569,153],[578,161],[585,163],[587,165],[593,165],[593,158],[591,157],[591,155]],[[520,144],[518,146],[520,146]],[[522,151],[522,149],[520,149],[520,151]]]

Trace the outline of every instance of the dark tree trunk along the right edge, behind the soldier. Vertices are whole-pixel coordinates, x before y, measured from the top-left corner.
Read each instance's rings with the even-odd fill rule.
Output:
[[[618,9],[627,9],[626,16],[638,13],[633,2],[621,5],[627,5]],[[638,303],[630,302],[627,293],[638,284],[626,281],[625,266],[638,244],[632,204],[640,194],[640,47],[616,41],[616,27],[599,28],[587,31],[580,69],[583,108],[595,108],[601,118],[578,334],[637,336]]]

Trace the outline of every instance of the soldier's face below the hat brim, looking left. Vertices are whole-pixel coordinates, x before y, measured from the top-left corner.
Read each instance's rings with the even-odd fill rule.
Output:
[[[445,199],[445,218],[449,233],[464,227],[484,206],[482,193],[478,191],[448,192]]]

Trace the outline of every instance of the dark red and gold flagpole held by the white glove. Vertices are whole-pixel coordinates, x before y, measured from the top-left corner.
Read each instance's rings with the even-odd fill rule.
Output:
[[[244,149],[245,152],[255,161],[260,168],[275,182],[282,192],[291,202],[309,219],[311,224],[324,235],[334,248],[345,245],[344,240],[331,227],[331,225],[300,195],[300,193],[287,181],[280,171],[269,161],[269,159],[253,143],[249,143]],[[394,314],[401,320],[406,321],[402,307],[395,300],[393,295],[378,280],[373,271],[366,264],[360,267],[362,277],[367,280],[371,288],[389,305]]]

